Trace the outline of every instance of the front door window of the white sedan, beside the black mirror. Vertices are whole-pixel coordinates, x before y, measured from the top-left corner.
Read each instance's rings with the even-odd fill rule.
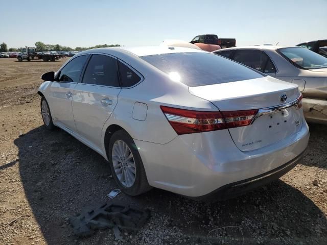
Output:
[[[77,83],[80,79],[87,57],[88,55],[82,55],[66,64],[60,71],[59,82]]]

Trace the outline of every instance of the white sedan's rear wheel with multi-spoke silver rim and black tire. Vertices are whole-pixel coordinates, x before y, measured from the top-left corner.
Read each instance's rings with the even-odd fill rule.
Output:
[[[124,130],[113,133],[108,147],[111,173],[122,191],[139,195],[152,187],[132,137]]]

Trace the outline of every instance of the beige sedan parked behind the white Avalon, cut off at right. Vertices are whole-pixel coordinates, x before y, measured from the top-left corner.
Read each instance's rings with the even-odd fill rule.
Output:
[[[225,48],[214,53],[297,84],[307,121],[327,124],[327,58],[303,47],[267,45]]]

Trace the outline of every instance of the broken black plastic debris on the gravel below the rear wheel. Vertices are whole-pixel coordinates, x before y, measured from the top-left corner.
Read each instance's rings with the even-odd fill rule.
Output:
[[[127,232],[141,228],[150,218],[150,210],[105,203],[78,216],[69,218],[77,236],[89,236],[97,229],[113,229],[116,239],[121,240],[118,228]],[[115,228],[116,227],[116,228]]]

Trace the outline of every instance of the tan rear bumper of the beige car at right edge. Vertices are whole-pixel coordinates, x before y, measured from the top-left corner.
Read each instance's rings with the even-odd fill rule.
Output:
[[[302,103],[307,121],[327,125],[327,101],[303,98]]]

